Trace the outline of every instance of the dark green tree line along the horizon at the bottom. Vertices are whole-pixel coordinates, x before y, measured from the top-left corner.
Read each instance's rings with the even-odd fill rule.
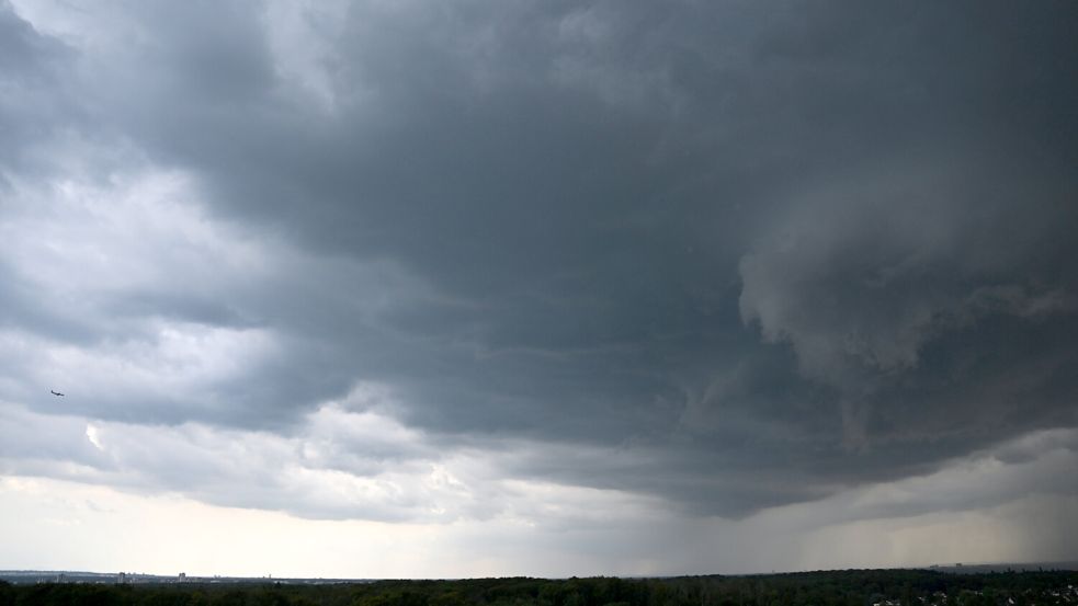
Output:
[[[327,585],[0,581],[0,606],[1078,606],[1078,572],[849,570],[668,579],[469,579]]]

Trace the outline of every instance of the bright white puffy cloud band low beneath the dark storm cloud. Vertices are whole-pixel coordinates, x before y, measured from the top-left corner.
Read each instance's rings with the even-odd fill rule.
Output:
[[[0,409],[3,471],[103,483],[135,494],[177,494],[310,519],[455,523],[502,519],[558,529],[644,514],[658,503],[614,490],[514,479],[498,445],[440,450],[421,432],[378,412],[330,402],[288,436],[97,421]],[[563,456],[572,456],[568,449]],[[579,456],[578,456],[579,458]]]

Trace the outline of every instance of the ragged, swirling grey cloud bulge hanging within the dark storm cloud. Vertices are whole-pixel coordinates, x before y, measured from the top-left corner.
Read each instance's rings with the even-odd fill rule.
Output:
[[[1059,272],[1074,252],[1063,230],[1078,222],[1070,175],[965,184],[949,181],[977,173],[950,170],[944,180],[881,168],[794,203],[741,260],[742,318],[790,341],[806,374],[841,384],[850,363],[915,367],[923,343],[986,316],[1073,313],[1074,276]]]

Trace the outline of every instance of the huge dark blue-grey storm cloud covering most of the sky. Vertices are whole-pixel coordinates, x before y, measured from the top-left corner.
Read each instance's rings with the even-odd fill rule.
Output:
[[[90,138],[334,260],[111,300],[286,345],[141,420],[371,381],[446,445],[640,453],[520,473],[724,515],[1078,422],[1070,4],[356,3],[304,16],[318,102],[256,10],[139,4],[56,59]],[[52,43],[4,19],[34,91]]]

